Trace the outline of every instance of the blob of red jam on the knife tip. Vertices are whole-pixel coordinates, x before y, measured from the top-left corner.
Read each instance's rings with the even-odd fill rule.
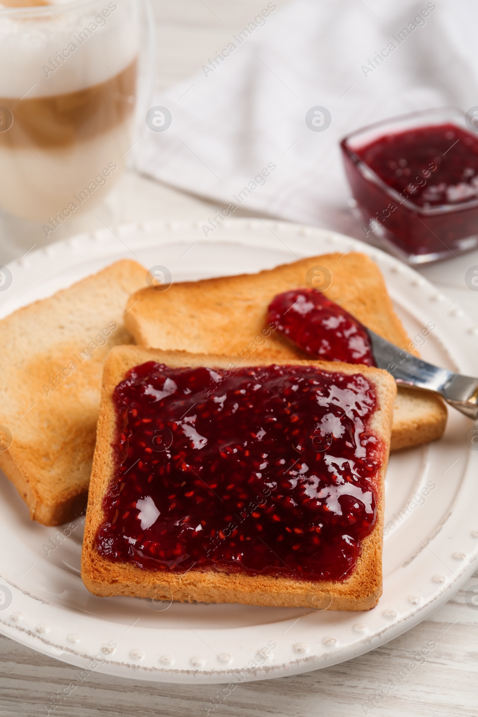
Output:
[[[341,306],[313,289],[294,289],[277,295],[269,305],[267,323],[322,361],[375,366],[368,333]]]

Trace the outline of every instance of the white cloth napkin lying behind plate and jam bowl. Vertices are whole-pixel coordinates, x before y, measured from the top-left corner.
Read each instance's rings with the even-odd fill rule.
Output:
[[[249,34],[231,36],[229,57],[225,44],[215,68],[207,63],[156,98],[172,123],[166,131],[146,130],[138,171],[224,207],[240,204],[364,239],[350,216],[340,138],[413,110],[478,105],[478,4],[297,0],[280,11],[272,6],[264,0],[269,15],[251,18]],[[388,57],[373,67],[384,48]],[[317,105],[332,116],[325,131],[305,122]]]

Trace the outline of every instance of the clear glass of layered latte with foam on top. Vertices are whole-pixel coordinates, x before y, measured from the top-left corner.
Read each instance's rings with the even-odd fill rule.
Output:
[[[51,240],[125,166],[143,12],[141,0],[0,0],[0,207]]]

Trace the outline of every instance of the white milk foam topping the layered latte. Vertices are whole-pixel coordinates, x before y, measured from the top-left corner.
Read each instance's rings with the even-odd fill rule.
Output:
[[[135,0],[55,4],[28,11],[0,5],[0,98],[84,90],[118,75],[137,56]]]

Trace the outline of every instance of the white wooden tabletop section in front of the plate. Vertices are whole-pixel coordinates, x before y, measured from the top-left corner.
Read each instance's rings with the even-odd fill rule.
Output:
[[[468,587],[477,586],[478,573]],[[216,717],[476,717],[478,610],[465,590],[383,647],[305,675],[238,685]],[[435,647],[433,647],[435,645]],[[429,646],[421,664],[417,652]],[[411,668],[411,663],[416,666]],[[0,715],[47,714],[80,670],[0,637]],[[390,688],[393,683],[395,688]],[[206,715],[224,685],[170,685],[92,673],[50,714],[56,717]],[[385,690],[385,693],[383,693]],[[229,690],[226,690],[229,691]]]

